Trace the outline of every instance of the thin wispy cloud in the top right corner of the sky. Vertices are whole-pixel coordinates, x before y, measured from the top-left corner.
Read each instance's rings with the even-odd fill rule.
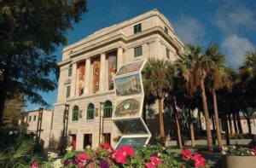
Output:
[[[256,31],[256,13],[239,1],[226,1],[218,8],[214,24],[222,29],[224,34],[240,31]]]

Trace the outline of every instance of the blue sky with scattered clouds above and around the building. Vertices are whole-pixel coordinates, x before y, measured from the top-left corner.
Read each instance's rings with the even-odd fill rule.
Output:
[[[256,49],[255,0],[88,0],[88,12],[67,32],[68,44],[93,32],[129,20],[149,10],[158,9],[171,22],[183,43],[201,45],[218,43],[226,55],[226,65],[238,68],[248,49]],[[61,50],[56,49],[57,61]],[[40,93],[54,108],[57,90]],[[26,110],[39,105],[27,102]]]

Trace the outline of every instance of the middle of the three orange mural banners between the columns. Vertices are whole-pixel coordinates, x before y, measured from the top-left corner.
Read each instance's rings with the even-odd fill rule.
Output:
[[[100,89],[100,60],[99,58],[93,61],[93,93]]]

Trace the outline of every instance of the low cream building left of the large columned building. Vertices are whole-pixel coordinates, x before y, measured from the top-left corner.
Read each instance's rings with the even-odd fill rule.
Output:
[[[49,148],[50,132],[52,126],[53,110],[43,110],[40,144],[43,148]],[[26,132],[28,134],[37,135],[37,131],[40,131],[39,110],[32,110],[25,113],[24,123],[26,123]]]

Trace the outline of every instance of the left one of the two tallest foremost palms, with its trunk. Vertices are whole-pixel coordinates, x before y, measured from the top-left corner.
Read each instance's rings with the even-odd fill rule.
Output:
[[[189,94],[192,95],[201,89],[201,98],[203,102],[203,109],[206,119],[207,127],[207,146],[210,151],[213,151],[212,146],[212,132],[210,127],[210,118],[207,107],[207,96],[205,90],[205,78],[207,77],[206,67],[207,60],[202,54],[200,46],[187,45],[187,54],[183,55],[181,59],[177,60],[178,67],[182,71],[183,78],[186,81]]]

